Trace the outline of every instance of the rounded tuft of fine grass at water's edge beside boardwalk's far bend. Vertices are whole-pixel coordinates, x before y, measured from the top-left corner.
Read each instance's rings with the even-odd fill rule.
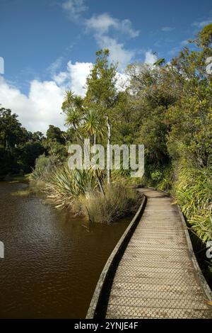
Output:
[[[99,191],[81,197],[81,204],[91,222],[110,223],[135,213],[141,203],[141,195],[121,183],[104,186],[105,196]]]

